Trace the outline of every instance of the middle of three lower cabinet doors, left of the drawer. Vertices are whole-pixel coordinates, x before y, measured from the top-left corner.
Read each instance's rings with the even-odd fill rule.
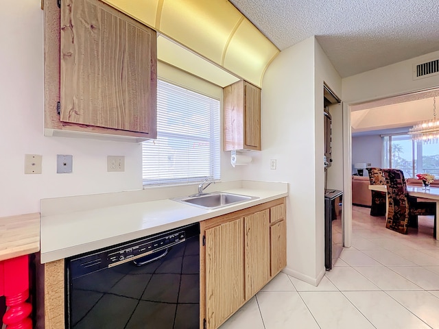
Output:
[[[244,217],[246,300],[270,279],[270,209]]]

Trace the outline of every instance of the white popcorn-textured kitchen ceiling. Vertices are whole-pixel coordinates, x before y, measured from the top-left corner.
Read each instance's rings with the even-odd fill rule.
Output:
[[[278,49],[316,36],[342,77],[439,50],[438,0],[230,0]]]

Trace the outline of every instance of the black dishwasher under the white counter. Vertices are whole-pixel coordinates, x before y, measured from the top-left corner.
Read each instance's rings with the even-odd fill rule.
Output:
[[[195,329],[200,226],[67,258],[66,328]]]

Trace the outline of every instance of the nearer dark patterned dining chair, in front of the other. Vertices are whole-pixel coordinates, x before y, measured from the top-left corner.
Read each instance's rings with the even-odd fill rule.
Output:
[[[388,216],[385,227],[407,234],[407,226],[417,227],[419,215],[434,215],[434,237],[436,237],[436,204],[417,202],[416,197],[407,193],[404,173],[399,169],[382,169],[387,186]],[[412,223],[409,223],[409,219]],[[416,223],[414,223],[416,219]]]

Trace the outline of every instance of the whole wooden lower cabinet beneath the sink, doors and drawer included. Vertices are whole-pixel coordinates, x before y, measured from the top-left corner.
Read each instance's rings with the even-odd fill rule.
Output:
[[[285,267],[285,229],[285,198],[200,222],[200,328],[221,326]]]

